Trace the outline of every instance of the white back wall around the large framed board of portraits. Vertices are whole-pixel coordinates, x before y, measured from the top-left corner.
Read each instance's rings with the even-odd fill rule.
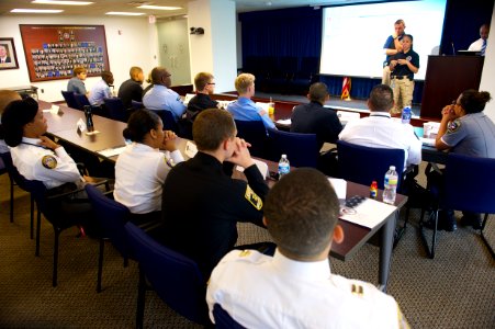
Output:
[[[67,87],[67,79],[33,83],[30,81],[19,24],[104,25],[110,70],[113,72],[116,90],[123,81],[130,78],[128,69],[132,66],[142,67],[146,75],[158,64],[156,26],[149,24],[147,18],[1,16],[2,36],[14,38],[19,69],[0,70],[0,89],[26,84],[36,86],[40,88],[41,100],[54,102],[63,100],[60,90],[66,90]],[[121,35],[119,35],[119,31],[121,31]],[[97,77],[88,78],[86,88],[90,90],[99,79]]]

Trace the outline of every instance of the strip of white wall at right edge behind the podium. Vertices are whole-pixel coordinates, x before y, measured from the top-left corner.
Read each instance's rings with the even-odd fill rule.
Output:
[[[486,115],[495,122],[495,7],[492,14],[492,31],[486,43],[485,63],[483,65],[483,73],[481,75],[480,91],[488,91],[492,101],[486,104]]]

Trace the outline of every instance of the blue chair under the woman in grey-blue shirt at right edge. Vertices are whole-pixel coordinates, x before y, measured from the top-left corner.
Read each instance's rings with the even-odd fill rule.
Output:
[[[488,214],[495,214],[495,159],[449,154],[441,191],[434,217],[435,228],[430,247],[424,234],[423,220],[420,225],[423,242],[429,258],[435,258],[440,208],[485,214],[480,234],[484,245],[495,258],[494,250],[483,234]]]

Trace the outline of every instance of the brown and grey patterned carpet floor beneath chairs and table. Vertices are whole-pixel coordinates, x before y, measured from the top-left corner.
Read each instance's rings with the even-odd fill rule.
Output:
[[[9,223],[8,178],[0,177],[0,328],[133,328],[137,265],[123,268],[106,245],[103,292],[97,294],[98,241],[60,237],[59,283],[52,287],[53,231],[44,222],[41,257],[29,237],[29,195],[15,191],[15,222]],[[393,253],[389,293],[413,328],[495,328],[495,262],[479,232],[441,231],[435,260],[425,257],[416,226],[418,211]],[[495,245],[495,222],[486,228]],[[268,234],[239,225],[239,243],[267,240]],[[331,259],[335,273],[376,283],[378,248],[364,246],[346,262]],[[294,300],[296,303],[296,300]],[[146,328],[195,328],[147,293]]]

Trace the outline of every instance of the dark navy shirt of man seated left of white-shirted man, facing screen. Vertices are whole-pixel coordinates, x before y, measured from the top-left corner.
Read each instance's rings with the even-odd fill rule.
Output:
[[[318,149],[323,144],[336,143],[342,131],[340,120],[334,110],[324,107],[319,102],[295,106],[291,116],[291,132],[316,134]]]

